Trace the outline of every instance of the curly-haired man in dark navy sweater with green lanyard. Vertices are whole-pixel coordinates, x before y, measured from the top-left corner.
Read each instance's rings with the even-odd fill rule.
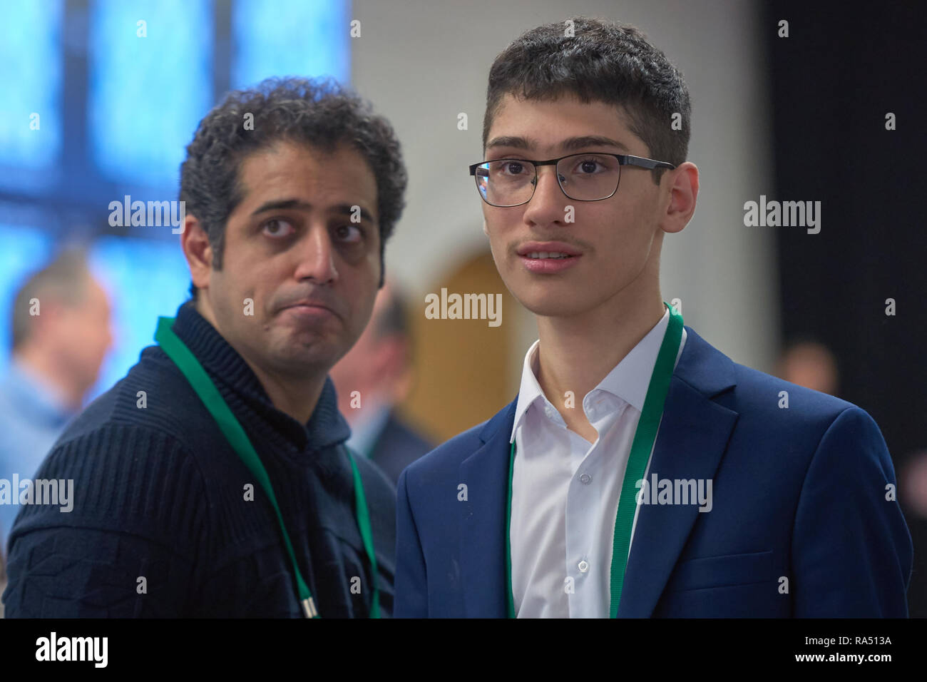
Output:
[[[389,123],[332,82],[210,111],[181,168],[193,298],[45,457],[73,509],[20,511],[7,617],[391,614],[394,489],[344,446],[328,370],[405,187]]]

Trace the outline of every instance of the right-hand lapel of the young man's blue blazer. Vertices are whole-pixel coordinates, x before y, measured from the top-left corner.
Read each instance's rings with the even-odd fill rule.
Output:
[[[734,367],[691,328],[669,383],[646,480],[714,479],[738,413],[713,402]],[[618,604],[619,618],[649,618],[698,518],[699,506],[641,505]],[[710,512],[707,512],[710,513]]]

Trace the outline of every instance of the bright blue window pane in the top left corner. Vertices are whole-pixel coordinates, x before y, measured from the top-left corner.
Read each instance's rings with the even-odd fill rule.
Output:
[[[10,0],[0,19],[0,163],[41,170],[61,151],[62,0]],[[38,114],[38,130],[31,129]]]

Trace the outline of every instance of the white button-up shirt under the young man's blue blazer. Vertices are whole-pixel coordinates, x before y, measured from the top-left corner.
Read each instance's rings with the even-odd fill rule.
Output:
[[[528,349],[510,439],[516,445],[510,534],[519,618],[608,617],[618,497],[668,324],[667,310],[582,399],[581,407],[599,434],[593,444],[566,428],[541,391],[540,341]],[[677,362],[685,341],[683,329]],[[564,405],[565,396],[553,397]],[[636,526],[637,511],[631,542]]]

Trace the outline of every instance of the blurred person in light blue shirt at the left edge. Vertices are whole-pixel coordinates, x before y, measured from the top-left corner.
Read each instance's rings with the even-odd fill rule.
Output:
[[[31,479],[80,410],[112,343],[109,314],[80,249],[62,251],[16,292],[12,357],[0,383],[0,479]],[[0,497],[0,553],[20,509],[12,501]]]

